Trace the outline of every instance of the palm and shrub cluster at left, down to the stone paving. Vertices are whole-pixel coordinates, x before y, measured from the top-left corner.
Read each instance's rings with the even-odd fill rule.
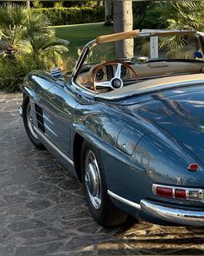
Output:
[[[0,6],[0,89],[16,91],[33,69],[64,66],[66,40],[57,39],[48,17],[19,5]]]

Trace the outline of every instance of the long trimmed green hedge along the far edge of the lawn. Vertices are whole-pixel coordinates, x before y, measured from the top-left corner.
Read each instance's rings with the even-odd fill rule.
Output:
[[[53,25],[68,25],[79,23],[98,23],[105,20],[103,6],[93,7],[60,7],[32,9],[36,13],[44,13]]]

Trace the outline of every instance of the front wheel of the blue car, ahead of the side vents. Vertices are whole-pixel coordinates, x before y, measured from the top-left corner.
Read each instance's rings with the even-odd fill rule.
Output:
[[[29,115],[30,104],[29,96],[25,95],[22,101],[22,120],[29,140],[35,145],[36,148],[45,149],[41,141],[38,139],[33,128],[32,119]]]

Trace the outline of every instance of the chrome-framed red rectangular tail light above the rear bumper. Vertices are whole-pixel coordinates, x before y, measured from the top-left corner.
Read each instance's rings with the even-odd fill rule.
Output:
[[[200,188],[171,187],[163,185],[152,185],[152,192],[158,196],[182,199],[182,200],[200,200],[204,201],[204,190]]]

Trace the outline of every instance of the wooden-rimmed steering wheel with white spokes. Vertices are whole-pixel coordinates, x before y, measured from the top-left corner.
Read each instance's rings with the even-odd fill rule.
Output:
[[[114,76],[111,80],[106,80],[103,82],[97,82],[97,75],[99,74],[100,70],[103,70],[105,66],[112,65],[117,66],[114,71]],[[95,71],[92,74],[92,86],[93,90],[97,92],[97,89],[120,89],[124,86],[124,82],[121,77],[121,71],[122,67],[125,67],[129,70],[131,70],[131,73],[133,74],[133,78],[135,78],[136,82],[138,82],[138,75],[136,71],[131,67],[130,64],[122,61],[111,61],[111,62],[103,62],[102,64],[99,64],[99,66],[95,69]]]

